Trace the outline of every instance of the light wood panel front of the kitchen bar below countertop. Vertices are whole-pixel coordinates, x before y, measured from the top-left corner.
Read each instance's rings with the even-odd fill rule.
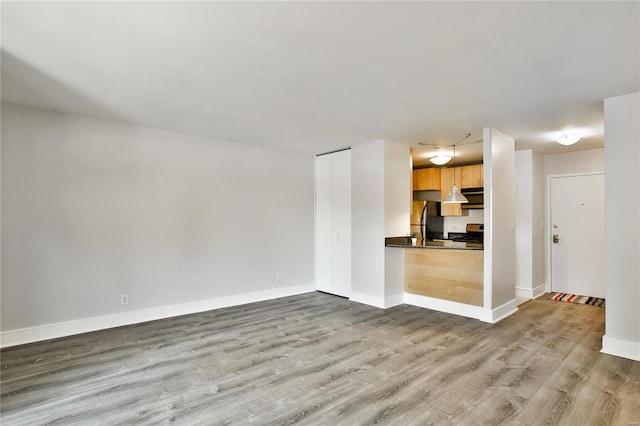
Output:
[[[484,251],[406,248],[407,293],[482,306]]]

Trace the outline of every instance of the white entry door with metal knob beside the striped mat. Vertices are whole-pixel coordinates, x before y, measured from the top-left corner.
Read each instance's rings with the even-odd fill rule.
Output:
[[[604,174],[550,179],[551,291],[605,297]]]

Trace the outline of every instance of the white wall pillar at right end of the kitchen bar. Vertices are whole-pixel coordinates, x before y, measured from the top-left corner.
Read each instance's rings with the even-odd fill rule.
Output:
[[[484,307],[500,317],[516,306],[514,140],[495,129],[484,129],[483,139]]]

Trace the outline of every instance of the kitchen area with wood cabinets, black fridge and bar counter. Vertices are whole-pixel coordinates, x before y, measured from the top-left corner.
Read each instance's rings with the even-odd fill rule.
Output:
[[[413,238],[390,237],[385,245],[404,249],[405,292],[482,306],[484,171],[482,151],[467,146],[457,155],[452,148],[412,149]]]

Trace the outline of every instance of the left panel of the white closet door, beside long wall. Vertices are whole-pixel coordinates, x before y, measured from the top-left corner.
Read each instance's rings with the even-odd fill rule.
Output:
[[[316,157],[316,289],[333,292],[333,158]]]

